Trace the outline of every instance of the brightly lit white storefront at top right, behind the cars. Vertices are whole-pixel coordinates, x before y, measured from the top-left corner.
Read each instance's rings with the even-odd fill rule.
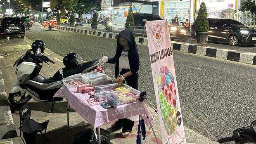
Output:
[[[222,11],[228,8],[238,11],[240,0],[162,0],[159,1],[159,14],[168,23],[176,16],[180,21],[190,19],[192,23],[201,2],[206,4],[208,17],[216,18],[221,17]]]

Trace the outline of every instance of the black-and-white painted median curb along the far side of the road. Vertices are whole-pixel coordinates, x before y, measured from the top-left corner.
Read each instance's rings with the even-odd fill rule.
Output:
[[[38,26],[43,26],[42,23],[38,23],[38,22],[34,22],[34,24]],[[118,36],[118,33],[92,31],[92,30],[86,30],[81,28],[70,28],[65,26],[57,26],[56,28],[64,31],[84,33],[84,34],[95,35],[95,36],[100,36],[105,38],[112,38],[112,39],[116,39]],[[135,42],[140,44],[143,43],[147,45],[147,38],[144,38],[144,40],[141,36],[135,36],[134,38],[135,38]],[[216,49],[215,47],[202,47],[194,44],[188,44],[184,42],[175,42],[175,41],[171,41],[171,46],[173,47],[173,50],[178,50],[178,51],[192,53],[192,54],[198,54],[198,55],[207,56],[207,57],[215,57],[218,59],[236,61],[236,62],[245,63],[245,64],[256,65],[256,53],[252,53],[252,52],[240,52],[236,50]]]

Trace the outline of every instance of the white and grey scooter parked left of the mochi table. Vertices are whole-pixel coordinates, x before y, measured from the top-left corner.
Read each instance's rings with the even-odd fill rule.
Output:
[[[44,62],[55,64],[54,61],[42,55],[40,48],[38,48],[36,54],[32,54],[31,50],[28,50],[14,63],[17,83],[12,86],[8,96],[12,105],[23,105],[33,98],[38,102],[53,102],[53,108],[56,101],[63,100],[63,98],[53,97],[63,86],[62,79],[97,68],[97,60],[90,60],[82,62],[75,68],[60,68],[54,76],[45,78],[40,74]]]

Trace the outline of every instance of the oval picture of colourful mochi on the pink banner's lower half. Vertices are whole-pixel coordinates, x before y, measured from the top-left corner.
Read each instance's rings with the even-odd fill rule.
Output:
[[[166,66],[161,66],[157,84],[164,128],[167,135],[171,135],[176,130],[176,127],[180,126],[181,119],[177,120],[177,118],[180,118],[180,114],[177,113],[178,105],[173,74]]]

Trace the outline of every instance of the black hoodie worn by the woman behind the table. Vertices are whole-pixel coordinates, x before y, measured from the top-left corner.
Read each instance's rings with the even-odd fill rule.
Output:
[[[136,73],[139,68],[140,68],[140,54],[137,49],[136,42],[133,37],[133,32],[125,29],[121,31],[117,37],[117,45],[116,45],[116,54],[112,59],[109,59],[110,64],[116,64],[115,67],[115,76],[116,78],[118,77],[119,74],[119,58],[121,56],[123,46],[119,44],[119,38],[124,37],[129,43],[130,49],[128,51],[128,59],[129,59],[129,64],[130,64],[130,71],[132,73]]]

